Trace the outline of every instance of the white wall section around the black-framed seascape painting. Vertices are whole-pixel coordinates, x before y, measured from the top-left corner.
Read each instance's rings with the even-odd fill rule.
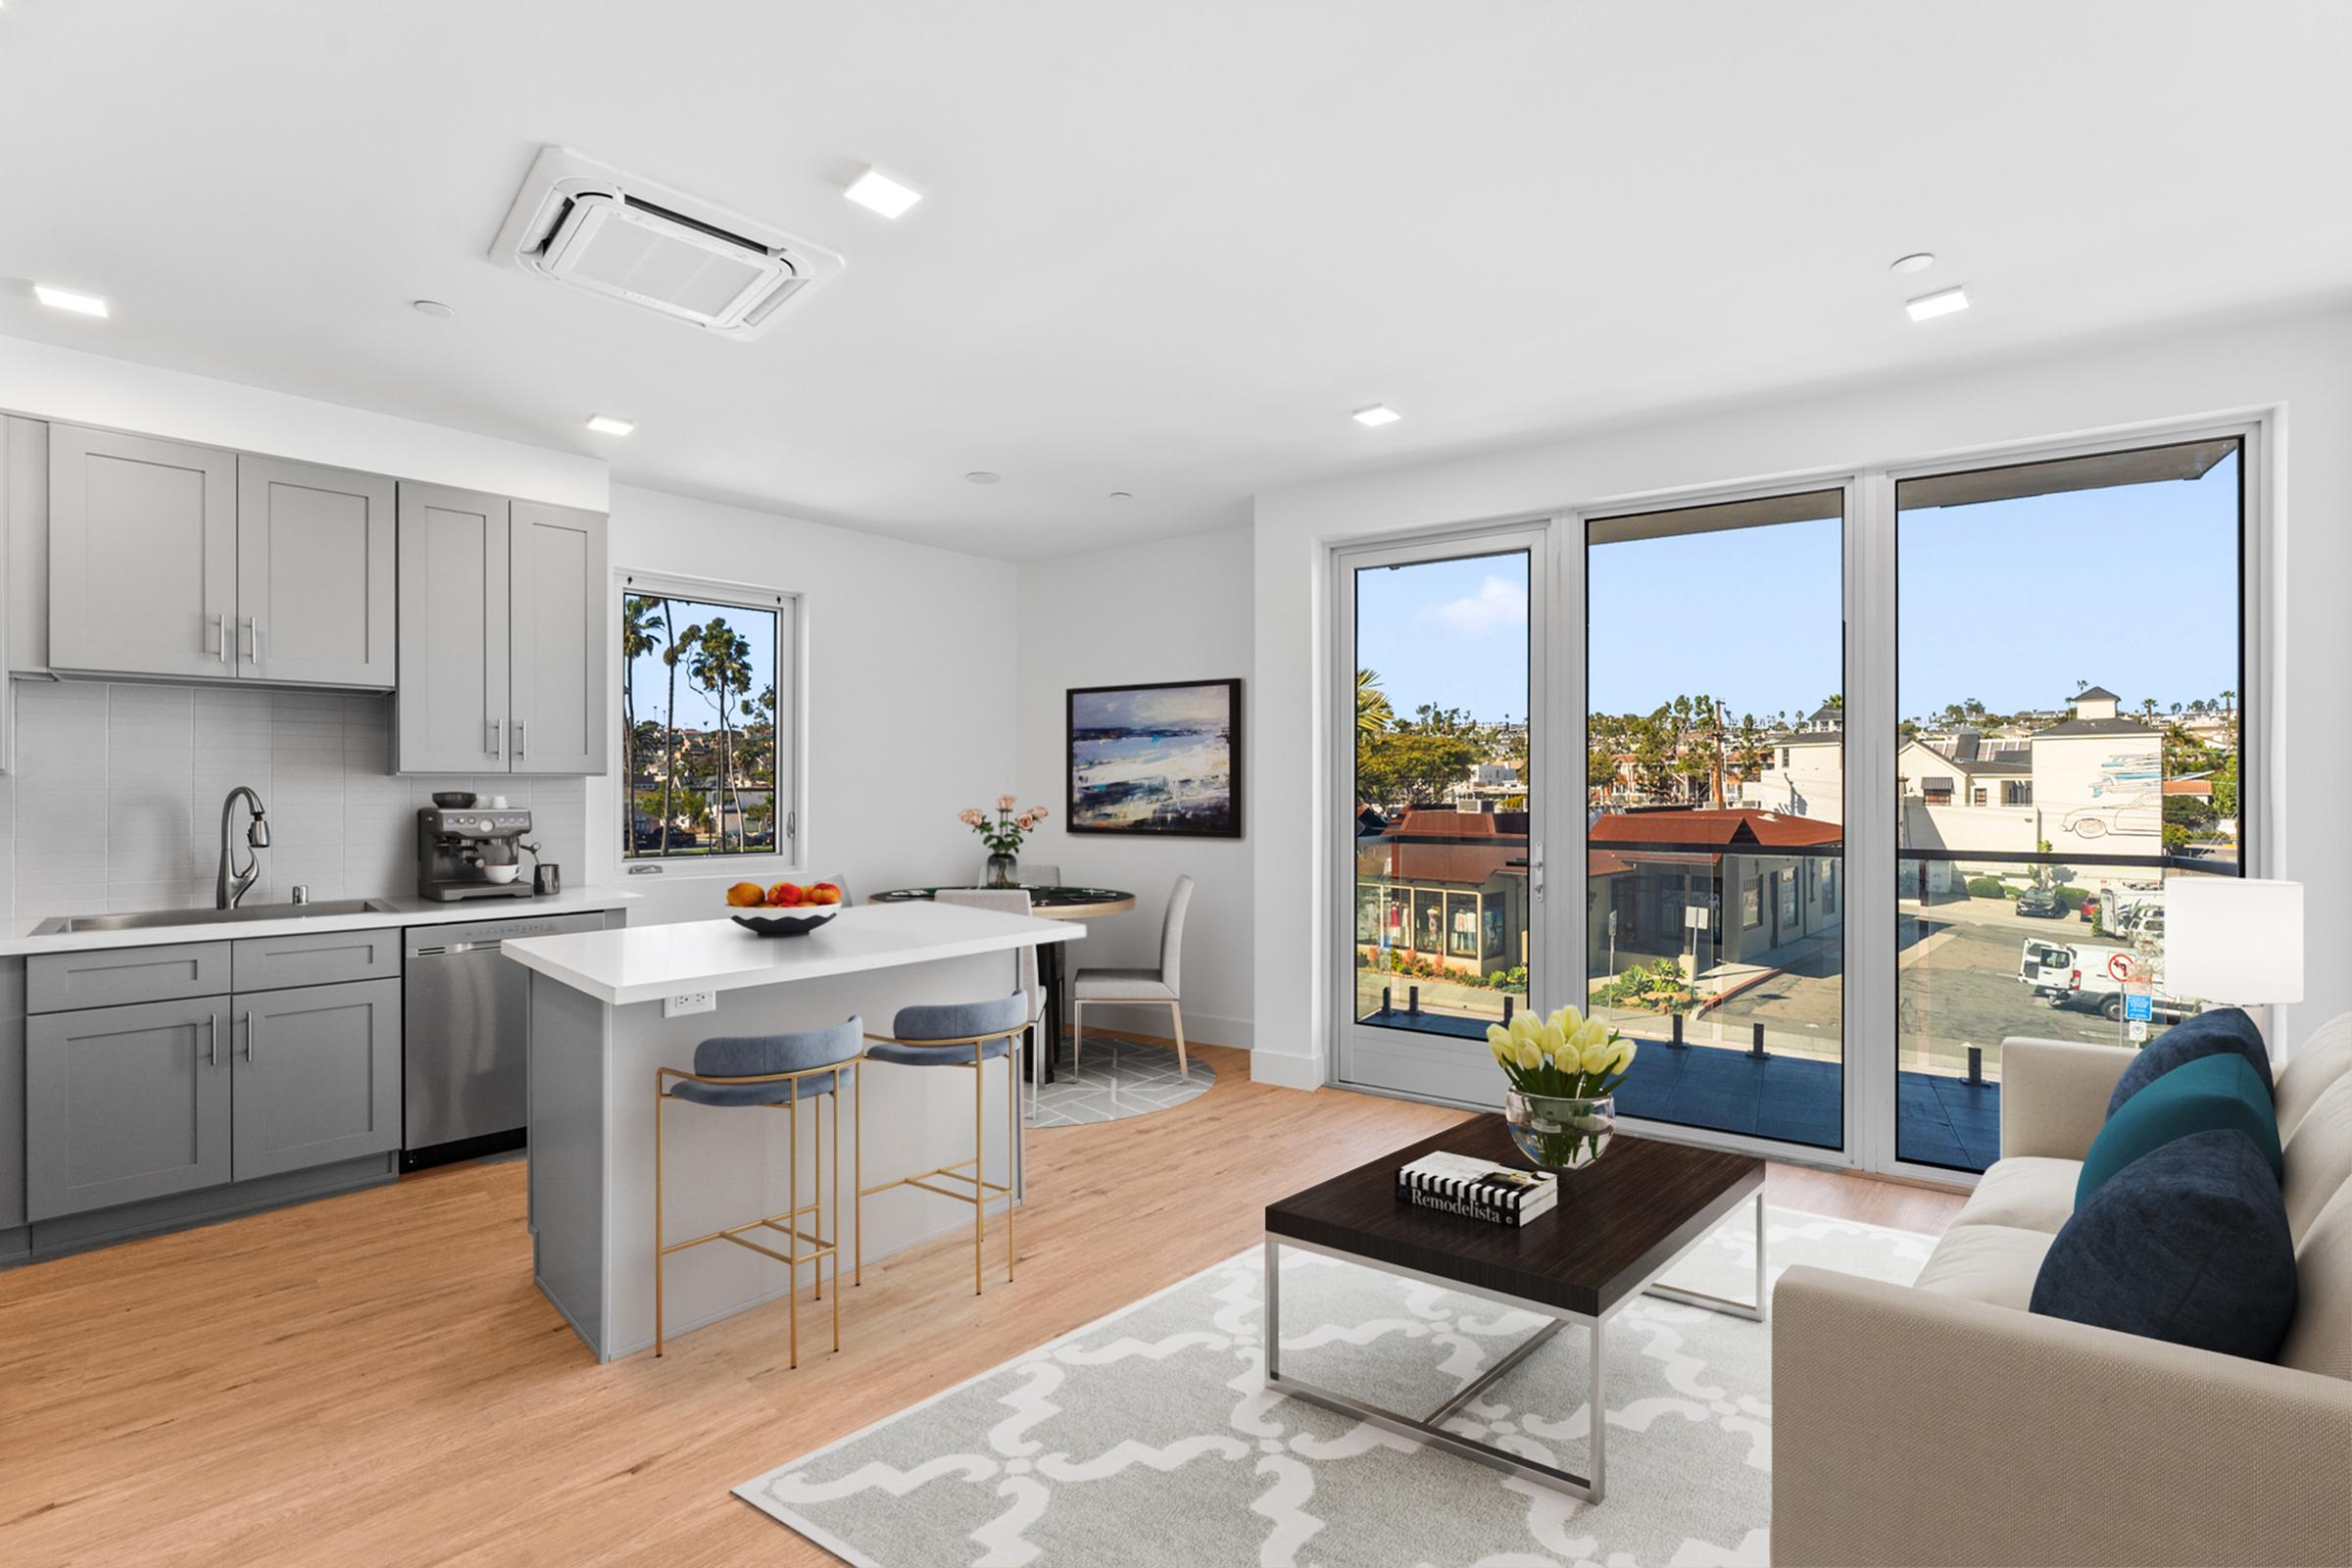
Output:
[[[1075,966],[1157,966],[1160,914],[1169,886],[1190,872],[1192,910],[1183,940],[1185,1037],[1214,1046],[1254,1044],[1251,1030],[1251,844],[1258,825],[1242,818],[1240,839],[1122,839],[1068,832],[1065,693],[1070,686],[1117,686],[1169,679],[1249,677],[1249,529],[1065,555],[1021,564],[1021,804],[1054,816],[1030,835],[1025,860],[1058,865],[1063,879],[1127,889],[1129,914],[1089,924],[1073,947]],[[1242,776],[1256,773],[1258,733],[1249,684],[1242,686]],[[995,795],[988,790],[985,795]],[[976,795],[964,804],[983,804]],[[967,832],[967,872],[985,849]],[[1089,1023],[1096,1018],[1087,1011]],[[1167,1009],[1103,1009],[1103,1023],[1167,1034]]]

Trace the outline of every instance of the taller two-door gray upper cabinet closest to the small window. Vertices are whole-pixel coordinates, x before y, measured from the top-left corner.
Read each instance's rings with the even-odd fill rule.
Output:
[[[604,771],[604,517],[400,484],[402,773]]]

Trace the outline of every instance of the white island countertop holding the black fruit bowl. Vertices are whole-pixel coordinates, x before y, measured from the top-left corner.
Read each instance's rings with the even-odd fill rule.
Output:
[[[788,985],[868,969],[1011,952],[1068,943],[1087,929],[960,905],[842,905],[807,936],[757,936],[731,919],[534,936],[506,943],[506,957],[609,1006],[661,1001],[680,992]]]

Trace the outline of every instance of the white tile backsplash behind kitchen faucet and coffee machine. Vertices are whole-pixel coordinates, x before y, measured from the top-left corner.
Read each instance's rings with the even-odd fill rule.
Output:
[[[416,809],[435,790],[529,806],[546,858],[579,884],[586,780],[402,778],[393,701],[367,693],[139,682],[16,682],[16,773],[0,776],[0,910],[12,919],[209,905],[221,802],[252,785],[270,816],[247,903],[416,891]],[[230,837],[242,853],[245,809]]]

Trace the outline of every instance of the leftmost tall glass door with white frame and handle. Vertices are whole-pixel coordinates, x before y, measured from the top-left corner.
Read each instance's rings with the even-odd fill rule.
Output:
[[[1541,997],[1543,559],[1541,529],[1338,557],[1350,1084],[1496,1103],[1486,1025]]]

